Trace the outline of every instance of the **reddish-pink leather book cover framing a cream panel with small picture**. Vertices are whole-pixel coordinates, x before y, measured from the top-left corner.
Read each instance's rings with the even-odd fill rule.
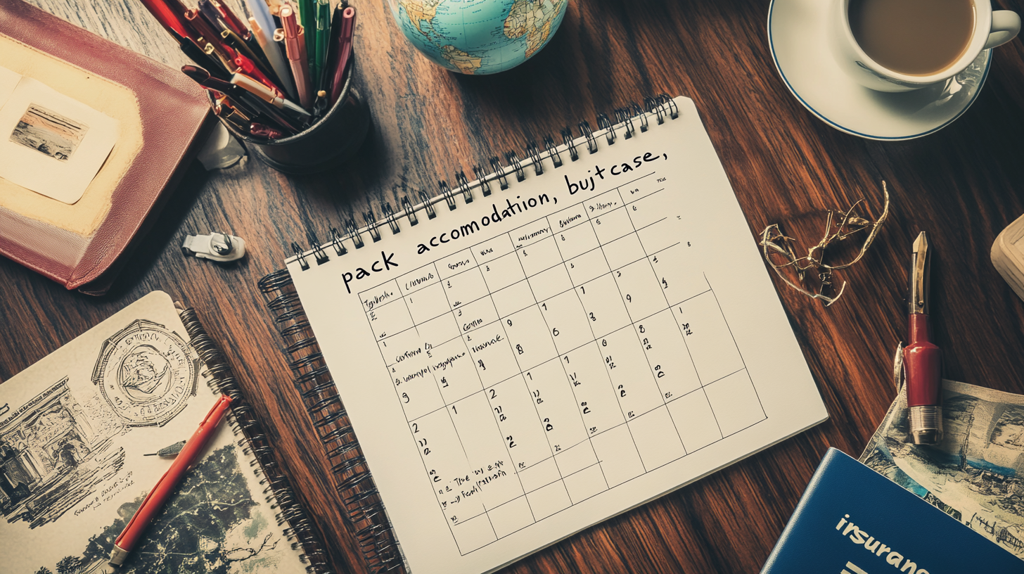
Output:
[[[0,2],[0,35],[123,86],[137,102],[141,128],[135,120],[128,131],[136,139],[140,134],[141,146],[135,141],[137,152],[112,179],[113,191],[103,191],[108,208],[96,211],[90,229],[76,233],[0,205],[0,254],[68,289],[103,294],[199,151],[212,126],[210,107],[203,90],[180,72],[25,2]],[[54,205],[54,210],[68,211],[68,220],[77,207]]]

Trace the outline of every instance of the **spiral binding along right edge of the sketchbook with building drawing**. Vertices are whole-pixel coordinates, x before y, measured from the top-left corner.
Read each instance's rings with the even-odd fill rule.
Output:
[[[266,434],[253,413],[252,406],[245,401],[220,348],[203,328],[195,310],[183,310],[181,323],[210,374],[210,386],[214,392],[231,398],[231,412],[227,421],[231,432],[239,438],[238,445],[243,453],[252,457],[250,464],[255,466],[253,474],[263,486],[262,495],[274,510],[278,526],[284,528],[284,535],[292,547],[303,552],[299,558],[306,563],[306,572],[330,574],[330,563],[319,534],[295,497],[288,477],[274,458],[273,448],[267,441]]]

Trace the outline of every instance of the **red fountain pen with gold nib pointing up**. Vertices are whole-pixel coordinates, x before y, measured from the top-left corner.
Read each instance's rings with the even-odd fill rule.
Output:
[[[906,406],[910,409],[910,438],[915,445],[942,441],[942,352],[929,338],[930,268],[928,236],[921,232],[913,241],[907,317],[909,344],[903,350]]]

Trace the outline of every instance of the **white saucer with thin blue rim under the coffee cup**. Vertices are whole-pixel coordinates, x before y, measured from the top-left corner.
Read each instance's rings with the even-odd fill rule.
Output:
[[[902,93],[867,89],[833,59],[825,17],[835,0],[772,0],[768,46],[797,99],[826,124],[870,139],[912,139],[951,124],[974,102],[992,50],[944,83]]]

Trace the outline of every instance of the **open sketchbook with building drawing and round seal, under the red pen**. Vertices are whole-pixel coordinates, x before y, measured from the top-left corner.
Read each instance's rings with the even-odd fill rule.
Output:
[[[220,351],[160,291],[0,384],[2,570],[102,571],[171,464],[146,455],[187,440],[221,393],[231,414],[118,571],[325,571]]]

